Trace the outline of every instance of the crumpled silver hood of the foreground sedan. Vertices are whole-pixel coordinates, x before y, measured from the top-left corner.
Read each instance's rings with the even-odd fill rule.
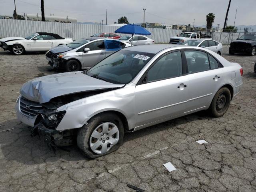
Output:
[[[122,86],[124,84],[112,84],[82,72],[68,72],[30,80],[23,84],[20,94],[28,100],[45,103],[58,96]]]

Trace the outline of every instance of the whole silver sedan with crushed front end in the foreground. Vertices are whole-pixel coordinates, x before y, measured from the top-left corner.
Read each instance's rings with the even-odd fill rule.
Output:
[[[224,115],[242,88],[242,73],[239,64],[204,48],[132,46],[87,71],[26,82],[16,114],[48,145],[76,140],[87,157],[96,158],[117,150],[124,130],[200,110]]]

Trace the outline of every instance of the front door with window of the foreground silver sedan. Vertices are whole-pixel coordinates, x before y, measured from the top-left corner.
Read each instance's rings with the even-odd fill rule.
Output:
[[[136,126],[183,114],[187,100],[187,76],[182,76],[181,52],[159,58],[145,74],[146,83],[135,88]]]

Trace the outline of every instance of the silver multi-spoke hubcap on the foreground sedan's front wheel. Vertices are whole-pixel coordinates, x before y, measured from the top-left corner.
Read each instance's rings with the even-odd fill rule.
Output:
[[[118,143],[119,130],[114,123],[104,122],[97,126],[90,136],[90,148],[96,154],[108,152]]]

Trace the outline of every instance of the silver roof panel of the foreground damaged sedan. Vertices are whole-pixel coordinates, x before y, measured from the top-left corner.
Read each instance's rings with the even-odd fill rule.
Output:
[[[146,53],[153,53],[156,54],[164,49],[178,47],[182,45],[175,45],[175,44],[151,44],[151,45],[139,45],[139,46],[130,46],[124,48],[123,50],[128,51],[138,51],[138,52],[146,52]]]

